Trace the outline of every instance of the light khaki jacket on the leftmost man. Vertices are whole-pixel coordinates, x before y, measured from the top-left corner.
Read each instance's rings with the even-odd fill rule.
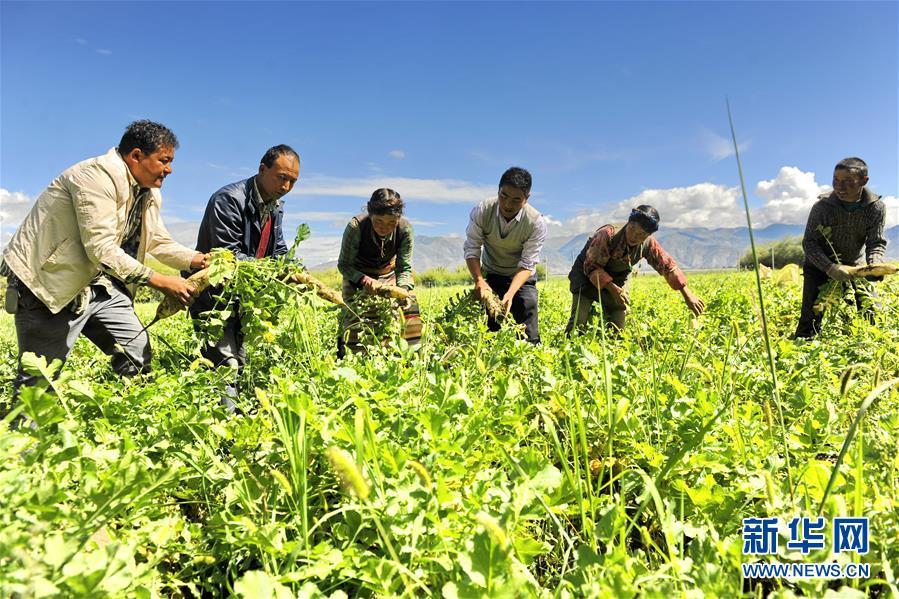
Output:
[[[152,270],[147,254],[187,270],[196,254],[172,239],[162,224],[162,197],[145,202],[137,260],[122,250],[133,178],[112,148],[66,169],[37,198],[16,230],[3,259],[19,280],[54,314],[102,271],[127,284],[144,282]],[[133,289],[132,289],[133,291]]]

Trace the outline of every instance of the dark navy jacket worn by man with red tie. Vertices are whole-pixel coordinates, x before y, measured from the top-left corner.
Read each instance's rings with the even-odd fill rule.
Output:
[[[206,205],[206,212],[200,222],[197,234],[197,251],[206,253],[215,248],[226,248],[234,252],[238,260],[254,260],[256,249],[262,237],[262,223],[259,222],[259,206],[256,198],[255,177],[226,185],[212,194]],[[265,256],[282,256],[287,253],[284,242],[284,203],[279,201],[272,213],[272,231],[269,236]],[[216,290],[200,294],[191,306],[191,314],[210,309]]]

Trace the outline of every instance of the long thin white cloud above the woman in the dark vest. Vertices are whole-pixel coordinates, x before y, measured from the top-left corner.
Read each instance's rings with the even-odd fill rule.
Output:
[[[406,201],[432,204],[475,204],[496,195],[493,185],[478,185],[457,179],[413,179],[409,177],[368,177],[341,179],[313,176],[302,179],[291,195],[339,196],[368,199],[380,187],[395,189]]]

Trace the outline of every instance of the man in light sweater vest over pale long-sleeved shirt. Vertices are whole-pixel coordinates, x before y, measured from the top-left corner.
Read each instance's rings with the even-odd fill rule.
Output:
[[[503,309],[525,325],[527,340],[539,343],[537,263],[546,241],[546,221],[528,204],[530,194],[529,172],[516,166],[503,173],[497,197],[471,211],[464,252],[475,293],[496,293]],[[488,316],[487,325],[499,330],[493,317]]]

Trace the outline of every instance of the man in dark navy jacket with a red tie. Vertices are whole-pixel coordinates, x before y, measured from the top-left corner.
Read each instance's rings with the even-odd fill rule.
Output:
[[[300,176],[300,156],[287,145],[269,148],[259,162],[259,171],[250,177],[222,187],[209,198],[206,212],[197,234],[197,251],[215,248],[231,250],[237,260],[255,260],[287,253],[282,224],[284,203],[281,198],[293,189]],[[219,309],[214,299],[220,289],[209,288],[190,307],[194,326],[198,319],[212,309]],[[236,370],[228,385],[224,400],[234,410],[237,396],[237,376],[246,361],[240,324],[240,306],[230,305],[231,317],[224,324],[222,336],[206,343],[200,350],[203,357],[215,366]]]

